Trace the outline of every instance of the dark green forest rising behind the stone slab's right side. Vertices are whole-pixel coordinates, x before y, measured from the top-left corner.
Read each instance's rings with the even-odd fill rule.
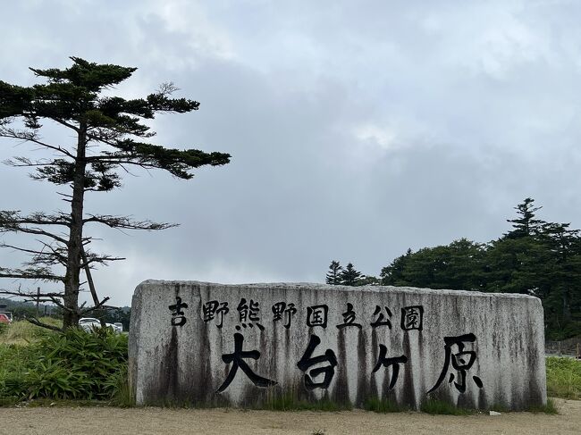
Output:
[[[488,243],[460,238],[446,246],[408,249],[379,277],[333,260],[325,281],[532,295],[543,302],[547,339],[581,335],[580,231],[569,223],[538,219],[541,208],[526,198],[515,207],[517,216],[508,220],[512,229],[501,238]]]

